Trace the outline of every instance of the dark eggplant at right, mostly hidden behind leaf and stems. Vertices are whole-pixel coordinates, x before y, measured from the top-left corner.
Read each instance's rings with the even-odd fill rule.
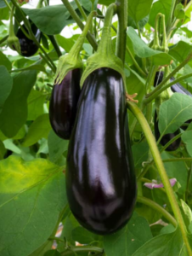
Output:
[[[160,84],[162,82],[163,79],[163,72],[157,72],[155,74],[155,81],[154,81],[154,86],[158,86],[158,84]],[[159,140],[160,138],[160,131],[159,131],[159,127],[158,127],[158,119],[157,119],[157,113],[155,110],[155,117],[154,117],[154,129],[155,129],[155,139],[156,141]],[[172,140],[173,137],[177,136],[180,133],[180,130],[178,129],[177,131],[173,132],[173,133],[168,133],[166,135],[164,135],[161,138],[161,145],[165,146],[168,142],[170,142]],[[171,145],[169,145],[166,148],[166,151],[175,151],[179,148],[181,143],[181,138],[179,137],[176,141],[174,141]]]

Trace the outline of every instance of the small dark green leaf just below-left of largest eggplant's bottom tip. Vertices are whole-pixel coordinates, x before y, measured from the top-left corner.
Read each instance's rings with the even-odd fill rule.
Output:
[[[99,241],[99,236],[82,227],[76,227],[76,229],[72,230],[71,235],[74,241],[78,241],[81,244],[89,244],[93,241]]]

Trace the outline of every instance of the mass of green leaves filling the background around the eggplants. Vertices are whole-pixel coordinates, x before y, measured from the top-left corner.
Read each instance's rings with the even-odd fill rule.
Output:
[[[65,195],[65,163],[68,141],[54,134],[48,119],[48,106],[54,84],[59,55],[65,55],[75,44],[76,29],[84,21],[82,10],[72,1],[76,20],[64,4],[28,9],[25,3],[16,9],[15,20],[25,15],[41,30],[42,41],[36,55],[29,58],[8,49],[8,20],[15,0],[0,0],[0,255],[105,255],[105,256],[164,256],[191,255],[192,249],[192,97],[174,93],[159,108],[161,137],[180,129],[182,143],[174,152],[165,151],[159,142],[167,177],[176,178],[173,188],[167,189],[146,139],[146,131],[129,111],[129,129],[135,170],[138,177],[138,201],[128,224],[110,236],[98,236],[82,228],[72,215]],[[67,2],[67,1],[62,1]],[[115,2],[115,1],[113,1]],[[117,3],[127,3],[118,0]],[[154,113],[158,87],[154,88],[155,72],[169,67],[170,76],[192,92],[192,32],[190,21],[192,3],[186,6],[179,0],[128,0],[127,52],[124,73],[127,92],[138,93],[138,107],[154,133]],[[85,15],[96,9],[98,17],[91,27],[93,40],[87,38],[81,57],[84,65],[99,44],[103,16],[110,0],[79,1]],[[121,6],[121,5],[120,5]],[[159,30],[161,49],[154,48],[155,20],[165,15],[168,51],[162,49],[163,29]],[[163,23],[162,18],[161,24]],[[171,22],[170,22],[171,19]],[[76,26],[78,24],[78,26]],[[62,30],[70,26],[71,38]],[[121,24],[122,26],[122,24]],[[111,29],[113,51],[118,45],[117,21]],[[15,21],[14,30],[18,29]],[[29,32],[29,31],[27,31]],[[182,37],[179,42],[176,36]],[[155,45],[156,46],[156,45]],[[167,73],[167,77],[169,75]],[[168,86],[169,79],[163,80]],[[166,90],[167,88],[164,88]],[[152,153],[151,153],[152,152]],[[158,158],[158,157],[157,157]],[[118,170],[116,170],[118,172]],[[149,189],[144,183],[163,183],[164,188]],[[171,189],[171,190],[170,190]],[[171,191],[171,192],[170,192]],[[175,201],[170,201],[170,195]],[[172,196],[171,195],[171,196]],[[178,206],[184,224],[179,223],[173,206]],[[55,237],[59,223],[64,228]],[[189,247],[188,242],[189,241]],[[83,246],[76,246],[76,242]],[[54,246],[57,250],[54,250]]]

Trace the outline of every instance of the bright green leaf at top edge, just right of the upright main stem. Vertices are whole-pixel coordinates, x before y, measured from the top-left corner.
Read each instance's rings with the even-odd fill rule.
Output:
[[[129,0],[128,14],[136,21],[144,19],[150,14],[150,8],[153,0]]]

